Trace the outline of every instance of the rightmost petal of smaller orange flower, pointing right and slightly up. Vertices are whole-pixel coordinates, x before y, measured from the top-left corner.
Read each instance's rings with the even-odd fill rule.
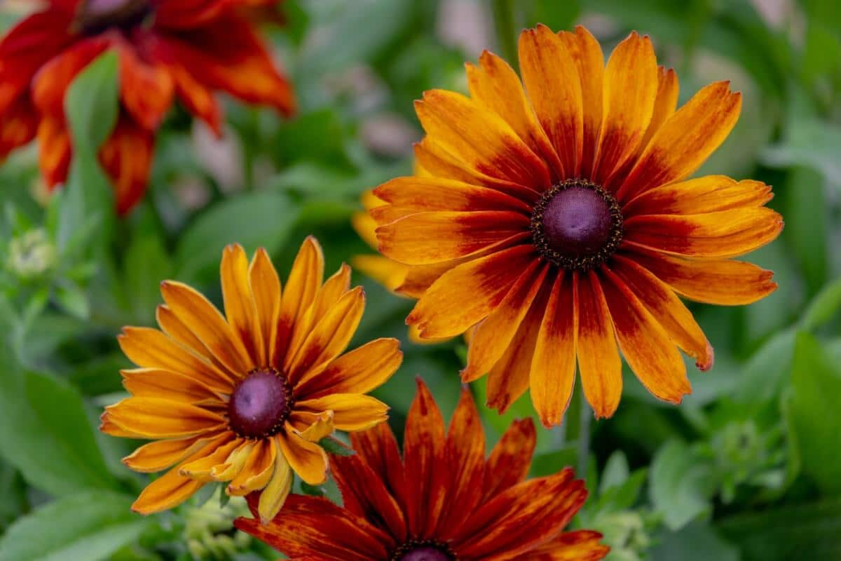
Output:
[[[403,362],[400,341],[383,338],[346,352],[295,389],[299,400],[327,394],[367,394],[385,384]]]

